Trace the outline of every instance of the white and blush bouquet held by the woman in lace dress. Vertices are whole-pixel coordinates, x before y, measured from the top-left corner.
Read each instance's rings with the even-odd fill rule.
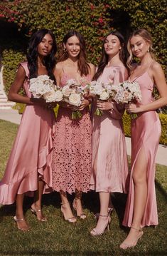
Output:
[[[70,79],[65,83],[65,86],[62,88],[63,101],[69,103],[72,106],[79,107],[84,99],[84,94],[87,91],[87,84],[77,83],[75,79]],[[72,119],[82,118],[80,111],[72,111]]]

